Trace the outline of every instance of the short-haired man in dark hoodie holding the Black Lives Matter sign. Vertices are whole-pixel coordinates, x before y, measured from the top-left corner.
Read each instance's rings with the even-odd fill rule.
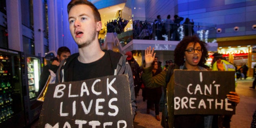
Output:
[[[134,119],[136,99],[132,70],[126,64],[126,55],[112,50],[101,50],[98,35],[102,22],[98,9],[87,0],[71,0],[67,5],[67,13],[69,30],[78,45],[78,53],[61,62],[56,72],[56,83],[128,74]]]

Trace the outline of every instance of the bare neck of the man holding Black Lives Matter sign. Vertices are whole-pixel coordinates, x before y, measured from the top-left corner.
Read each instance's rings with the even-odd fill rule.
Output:
[[[97,61],[105,54],[105,52],[101,50],[99,43],[96,44],[96,42],[91,43],[89,46],[78,48],[78,51],[78,61],[81,63],[91,63]]]

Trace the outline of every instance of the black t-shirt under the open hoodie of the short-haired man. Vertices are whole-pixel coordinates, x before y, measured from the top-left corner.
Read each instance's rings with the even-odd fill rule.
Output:
[[[78,61],[78,57],[74,60],[74,75],[72,81],[88,80],[114,74],[114,69],[111,67],[110,56],[107,52],[105,52],[104,56],[98,61],[92,63],[81,63]]]

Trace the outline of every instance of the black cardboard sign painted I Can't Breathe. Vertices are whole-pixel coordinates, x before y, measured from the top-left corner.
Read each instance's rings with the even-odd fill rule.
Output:
[[[235,91],[233,71],[174,70],[174,114],[235,114],[226,95]]]

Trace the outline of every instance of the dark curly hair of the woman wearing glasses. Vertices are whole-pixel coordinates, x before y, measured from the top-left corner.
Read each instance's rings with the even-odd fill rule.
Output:
[[[182,39],[182,41],[180,41],[180,43],[178,43],[178,45],[176,46],[175,50],[174,50],[174,62],[180,66],[180,65],[184,65],[185,61],[184,61],[184,56],[185,56],[185,50],[188,46],[189,43],[193,42],[195,43],[199,43],[200,46],[202,47],[202,57],[198,63],[198,66],[205,66],[206,60],[208,58],[208,50],[206,48],[207,44],[204,41],[200,41],[200,39],[196,36],[187,36],[184,37]]]

